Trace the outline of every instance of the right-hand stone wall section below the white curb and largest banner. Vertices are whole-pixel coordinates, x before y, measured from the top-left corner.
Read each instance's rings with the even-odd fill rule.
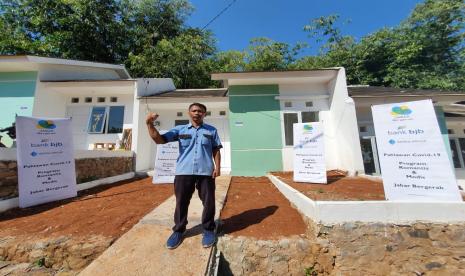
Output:
[[[465,224],[355,224],[322,227],[343,275],[464,275]]]

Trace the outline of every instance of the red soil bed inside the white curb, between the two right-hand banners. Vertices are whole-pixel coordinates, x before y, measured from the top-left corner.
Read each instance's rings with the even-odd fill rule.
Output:
[[[273,172],[312,200],[385,200],[382,181],[365,177],[346,177],[338,171],[329,171],[328,184],[294,182],[293,172]]]

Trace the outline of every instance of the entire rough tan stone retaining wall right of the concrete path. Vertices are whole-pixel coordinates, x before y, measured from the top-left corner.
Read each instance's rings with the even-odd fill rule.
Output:
[[[312,227],[306,238],[221,237],[222,275],[465,274],[465,224]]]

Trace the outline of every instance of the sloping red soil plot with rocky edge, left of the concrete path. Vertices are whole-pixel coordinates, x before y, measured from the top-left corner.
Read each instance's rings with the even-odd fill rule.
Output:
[[[75,275],[171,195],[173,185],[131,179],[0,213],[0,275]]]

